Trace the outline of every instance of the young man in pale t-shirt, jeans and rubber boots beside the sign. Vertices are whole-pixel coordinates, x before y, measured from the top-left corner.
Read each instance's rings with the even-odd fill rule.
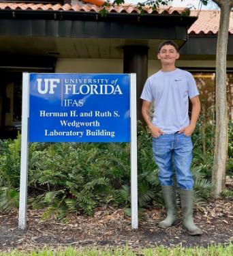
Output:
[[[167,217],[159,227],[167,229],[177,223],[176,190],[172,179],[172,159],[176,181],[180,188],[183,225],[192,236],[202,230],[193,223],[193,177],[190,171],[192,158],[191,134],[200,113],[199,93],[193,76],[175,67],[178,46],[173,41],[159,45],[157,58],[161,70],[147,79],[141,98],[142,115],[153,137],[153,155],[159,167],[159,181],[164,195]],[[189,120],[189,99],[192,103]],[[151,102],[153,119],[149,117]]]

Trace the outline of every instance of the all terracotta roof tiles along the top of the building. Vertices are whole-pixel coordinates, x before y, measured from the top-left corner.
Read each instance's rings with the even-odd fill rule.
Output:
[[[87,0],[93,2],[93,0]],[[95,0],[96,1],[96,0]],[[101,5],[103,0],[98,0],[97,3]],[[140,11],[135,5],[124,3],[122,5],[114,5],[106,8],[108,12],[112,13],[127,13],[127,14],[139,14]],[[74,12],[99,12],[101,7],[93,5],[79,0],[72,0],[72,5],[66,3],[61,5],[60,3],[52,5],[51,3],[0,3],[0,10],[63,10],[63,11],[74,11]],[[171,6],[165,8],[159,8],[152,10],[152,8],[144,7],[146,14],[164,14],[164,15],[181,15],[185,11],[185,8],[174,8]],[[198,11],[191,11],[190,16],[197,16]],[[231,12],[229,33],[233,34],[233,12]],[[219,11],[201,11],[199,12],[198,20],[189,28],[189,33],[192,34],[217,34],[219,29]]]

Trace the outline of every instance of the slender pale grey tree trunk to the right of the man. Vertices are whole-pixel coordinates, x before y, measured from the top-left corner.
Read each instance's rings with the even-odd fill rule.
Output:
[[[216,2],[216,1],[215,1]],[[214,196],[219,197],[226,187],[226,161],[228,156],[228,109],[226,100],[226,55],[228,29],[232,0],[218,1],[221,8],[216,55],[216,130],[215,154],[212,182],[215,185]]]

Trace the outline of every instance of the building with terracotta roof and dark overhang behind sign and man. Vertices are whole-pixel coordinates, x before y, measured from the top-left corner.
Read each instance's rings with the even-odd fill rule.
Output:
[[[147,76],[159,70],[159,42],[174,40],[181,48],[179,68],[193,73],[202,110],[215,104],[215,53],[218,11],[183,8],[109,6],[101,0],[0,1],[0,131],[15,137],[22,113],[22,72],[137,74],[139,96]],[[228,40],[228,116],[233,117],[233,17]]]

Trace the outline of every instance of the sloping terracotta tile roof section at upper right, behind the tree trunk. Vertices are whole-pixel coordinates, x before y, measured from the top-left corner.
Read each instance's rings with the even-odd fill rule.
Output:
[[[197,16],[198,11],[191,11],[191,16]],[[219,31],[219,18],[220,12],[213,11],[201,11],[193,25],[189,28],[189,33],[193,34],[217,34]],[[233,33],[233,12],[230,13],[229,33]]]

